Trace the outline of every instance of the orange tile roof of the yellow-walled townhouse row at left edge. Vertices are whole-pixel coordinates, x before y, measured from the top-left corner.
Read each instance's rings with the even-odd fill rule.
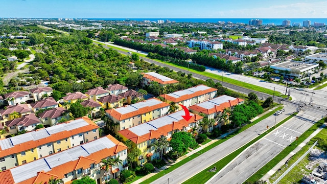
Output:
[[[50,134],[47,131],[49,136],[46,136],[45,138],[41,138],[41,139],[38,139],[38,140],[31,140],[31,141],[27,140],[26,142],[22,142],[22,143],[19,143],[19,144],[12,145],[12,147],[6,148],[6,149],[2,149],[0,147],[0,157],[8,156],[8,155],[19,153],[19,152],[22,152],[22,151],[26,151],[26,150],[29,150],[29,149],[32,149],[32,148],[36,148],[36,147],[38,147],[40,145],[56,142],[58,140],[65,139],[65,138],[67,138],[69,136],[72,136],[72,135],[76,135],[76,134],[79,134],[79,133],[83,133],[83,132],[87,132],[87,131],[91,131],[91,130],[99,128],[99,126],[97,124],[95,124],[94,122],[92,122],[89,118],[82,117],[81,119],[83,119],[85,122],[87,122],[88,125],[78,127],[78,128],[72,129],[72,130],[67,130],[66,128],[63,128],[62,131],[60,131],[58,133],[53,133],[53,134]],[[74,121],[77,121],[77,120],[74,120]],[[69,122],[66,122],[64,124],[68,124],[68,123],[71,123],[71,122],[74,122],[74,121],[69,121]],[[57,126],[58,125],[56,125],[56,127]],[[45,129],[51,129],[51,128],[52,127],[45,128]],[[28,132],[28,133],[17,135],[17,136],[30,137],[30,136],[32,136],[33,132],[37,132],[37,131],[41,131],[41,130],[43,130],[43,129],[38,129],[36,131]],[[17,137],[17,136],[15,136],[15,137]],[[0,141],[7,141],[8,142],[8,139],[12,139],[12,138],[10,137],[10,138],[7,138],[6,140],[0,140]]]

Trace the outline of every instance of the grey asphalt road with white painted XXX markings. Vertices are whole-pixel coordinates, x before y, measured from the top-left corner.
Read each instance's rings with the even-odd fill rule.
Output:
[[[302,112],[249,147],[207,183],[243,183],[252,174],[285,149],[297,136],[320,120],[320,114]],[[279,115],[281,116],[281,115]],[[295,143],[293,143],[295,144]],[[235,177],[237,176],[237,177]],[[233,178],[233,179],[230,179]]]

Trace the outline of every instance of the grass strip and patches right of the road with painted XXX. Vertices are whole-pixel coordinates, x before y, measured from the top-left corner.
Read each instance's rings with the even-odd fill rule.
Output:
[[[309,135],[311,135],[311,133],[313,133],[322,124],[323,124],[323,121],[322,120],[320,120],[318,123],[314,124],[311,128],[309,128],[306,132],[304,132],[302,135],[299,136],[298,141],[297,141],[297,144],[296,144],[296,141],[294,141],[291,144],[291,146],[286,147],[281,153],[279,153],[277,156],[275,156],[272,160],[270,160],[270,162],[268,162],[265,166],[263,166],[259,171],[257,171],[256,173],[254,173],[246,181],[254,182],[254,181],[260,180],[260,178],[262,178],[268,171],[270,171],[274,166],[276,166],[277,163],[279,163],[291,151],[293,151],[297,147],[297,145],[299,145],[304,140],[306,140],[307,137]],[[305,153],[307,150],[308,150],[308,148],[303,147],[301,151],[303,151],[303,153]],[[298,157],[300,157],[300,156],[298,156]],[[289,165],[292,165],[295,161],[296,161],[296,156],[293,156],[292,159],[289,161]],[[279,174],[282,174],[283,172],[278,172],[278,173]],[[275,177],[275,179],[277,179],[277,177]],[[283,183],[283,182],[281,182],[281,183]]]

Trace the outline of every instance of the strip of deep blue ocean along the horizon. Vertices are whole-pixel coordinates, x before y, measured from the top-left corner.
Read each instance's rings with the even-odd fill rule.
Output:
[[[157,21],[157,20],[170,20],[176,22],[218,22],[218,21],[231,21],[233,23],[245,23],[248,24],[250,19],[261,19],[263,25],[267,24],[274,24],[274,25],[282,25],[282,22],[285,19],[291,20],[291,25],[296,22],[303,24],[305,20],[311,20],[311,24],[313,25],[314,22],[324,23],[327,25],[327,18],[87,18],[87,19],[94,19],[94,20],[150,20],[150,21]]]

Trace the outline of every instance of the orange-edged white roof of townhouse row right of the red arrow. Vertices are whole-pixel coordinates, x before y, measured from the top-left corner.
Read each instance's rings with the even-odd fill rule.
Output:
[[[212,114],[215,112],[223,112],[225,108],[235,106],[243,101],[244,100],[240,98],[233,98],[227,95],[222,95],[212,100],[192,105],[189,107],[189,109],[191,111],[194,110],[204,114]]]

